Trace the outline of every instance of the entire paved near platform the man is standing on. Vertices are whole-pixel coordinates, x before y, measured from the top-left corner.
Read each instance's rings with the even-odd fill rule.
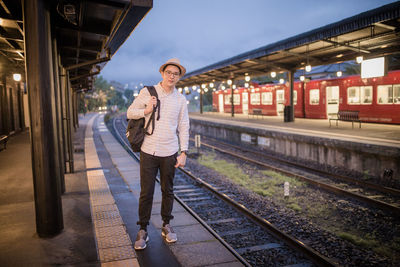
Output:
[[[29,132],[10,137],[0,152],[0,266],[243,266],[181,205],[171,221],[178,242],[161,237],[161,191],[156,185],[150,242],[134,251],[139,164],[97,114],[80,116],[74,136],[75,173],[66,174],[64,230],[36,234]]]

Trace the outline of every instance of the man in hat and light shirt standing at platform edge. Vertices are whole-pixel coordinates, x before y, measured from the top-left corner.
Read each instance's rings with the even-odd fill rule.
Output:
[[[186,98],[175,88],[179,78],[186,69],[176,58],[168,60],[160,67],[162,81],[155,85],[160,100],[160,118],[155,116],[152,135],[146,135],[140,152],[140,198],[139,221],[140,230],[135,241],[135,249],[146,248],[149,240],[147,225],[149,224],[153,204],[155,178],[160,170],[162,192],[161,217],[162,236],[168,243],[176,242],[177,236],[169,225],[174,201],[173,179],[175,168],[185,166],[189,145],[189,115]],[[151,96],[147,88],[143,88],[127,111],[128,119],[145,117],[146,125],[157,105],[157,99]],[[151,133],[151,125],[148,132]],[[179,138],[179,143],[178,143]],[[180,154],[178,156],[178,150]]]

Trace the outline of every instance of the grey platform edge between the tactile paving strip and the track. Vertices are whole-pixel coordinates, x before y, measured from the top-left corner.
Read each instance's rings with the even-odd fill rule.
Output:
[[[139,163],[122,148],[107,130],[102,116],[99,116],[93,122],[93,140],[96,144],[96,154],[99,155],[103,171],[107,170],[104,174],[110,190],[115,191],[113,196],[120,209],[123,225],[126,226],[130,239],[134,240],[138,231],[136,222],[138,220],[137,204],[140,194]],[[90,132],[90,123],[88,129]],[[100,137],[102,144],[98,142],[99,140],[96,142],[98,137]],[[88,142],[91,141],[90,134],[86,135],[86,139]],[[86,153],[90,152],[86,148],[85,150]],[[94,155],[95,153],[90,154]],[[113,167],[118,171],[117,173],[112,174],[113,170],[111,169]],[[94,168],[97,167],[94,166]],[[140,266],[242,266],[176,201],[173,208],[175,218],[171,221],[171,225],[178,235],[178,241],[174,244],[167,244],[161,237],[160,210],[161,190],[160,186],[156,184],[152,218],[148,227],[150,242],[145,250],[135,251]],[[119,245],[115,244],[115,246],[118,247]]]

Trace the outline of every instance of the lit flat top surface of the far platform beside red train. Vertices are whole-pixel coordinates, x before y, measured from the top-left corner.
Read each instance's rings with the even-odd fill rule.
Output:
[[[329,121],[323,119],[295,118],[294,122],[284,122],[283,117],[278,116],[235,114],[234,117],[231,117],[231,114],[217,112],[190,113],[189,116],[199,120],[232,123],[252,128],[260,127],[278,132],[400,147],[400,125],[361,123],[361,128],[358,128],[358,124],[352,128],[351,122],[339,121],[338,127],[335,126],[335,123],[329,127]]]

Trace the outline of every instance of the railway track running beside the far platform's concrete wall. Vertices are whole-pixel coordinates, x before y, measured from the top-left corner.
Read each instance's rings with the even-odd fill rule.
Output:
[[[191,141],[194,141],[191,139]],[[211,138],[202,138],[202,146],[295,177],[335,194],[341,194],[400,215],[400,190],[364,182],[343,175],[335,175],[302,164],[290,162],[244,147]]]

